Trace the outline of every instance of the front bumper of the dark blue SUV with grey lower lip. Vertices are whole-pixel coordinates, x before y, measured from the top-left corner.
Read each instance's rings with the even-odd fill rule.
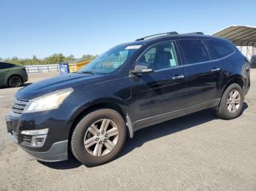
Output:
[[[48,114],[47,114],[48,115]],[[38,160],[54,162],[68,159],[68,140],[67,137],[63,136],[62,133],[56,133],[59,128],[63,128],[63,122],[59,123],[60,127],[56,127],[56,119],[44,119],[44,114],[37,115],[28,114],[21,117],[12,117],[7,115],[5,120],[7,122],[7,132],[11,134],[12,140],[15,141],[22,149],[28,152]],[[29,139],[28,135],[24,135],[23,132],[40,132],[45,127],[49,129],[47,135],[31,136]],[[54,128],[55,127],[55,128]],[[63,130],[62,130],[63,131]],[[36,137],[45,140],[42,146],[32,144],[33,139]],[[34,140],[35,141],[35,140]]]

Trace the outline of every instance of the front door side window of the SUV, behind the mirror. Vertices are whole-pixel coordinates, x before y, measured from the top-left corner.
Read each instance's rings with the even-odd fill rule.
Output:
[[[173,42],[157,44],[151,47],[138,61],[140,65],[146,65],[153,70],[168,69],[178,66],[176,50]]]

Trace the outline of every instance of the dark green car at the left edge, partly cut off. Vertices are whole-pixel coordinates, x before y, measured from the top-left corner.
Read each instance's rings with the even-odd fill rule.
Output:
[[[0,87],[19,87],[28,79],[25,67],[13,63],[0,62]]]

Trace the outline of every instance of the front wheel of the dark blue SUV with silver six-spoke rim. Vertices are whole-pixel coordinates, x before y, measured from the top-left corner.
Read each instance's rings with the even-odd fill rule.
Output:
[[[103,123],[105,125],[102,125]],[[103,134],[101,128],[107,126],[105,134]],[[111,134],[116,133],[116,130],[118,130],[118,135],[111,136]],[[99,132],[101,132],[100,135]],[[98,109],[87,114],[76,125],[71,137],[72,153],[80,163],[86,166],[102,165],[118,156],[124,147],[126,137],[127,129],[123,117],[113,109]],[[91,147],[88,144],[90,142]],[[115,147],[113,147],[113,144],[115,144]]]

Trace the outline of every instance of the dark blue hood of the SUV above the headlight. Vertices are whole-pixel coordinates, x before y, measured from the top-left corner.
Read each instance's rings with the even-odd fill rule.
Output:
[[[85,87],[85,85],[91,84],[92,81],[97,82],[100,77],[102,76],[91,74],[64,74],[59,77],[52,77],[23,87],[18,90],[15,97],[30,100],[40,95],[68,87],[74,89],[78,86]]]

